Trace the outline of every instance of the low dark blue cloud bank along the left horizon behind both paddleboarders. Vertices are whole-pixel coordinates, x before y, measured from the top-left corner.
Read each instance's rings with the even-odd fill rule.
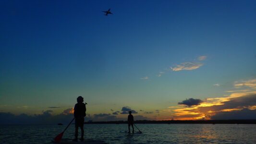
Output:
[[[132,110],[130,107],[123,107],[122,112],[127,112],[131,110],[134,113],[137,113],[135,110]],[[69,123],[73,119],[73,108],[64,109],[60,114],[53,115],[53,110],[42,111],[41,114],[27,115],[20,114],[14,115],[10,112],[0,112],[0,124],[57,124],[57,123]],[[115,121],[115,120],[127,120],[125,118],[118,118],[117,114],[120,111],[115,111],[112,114],[109,113],[98,113],[90,115],[87,113],[85,121]],[[144,116],[134,116],[134,120],[150,120]]]

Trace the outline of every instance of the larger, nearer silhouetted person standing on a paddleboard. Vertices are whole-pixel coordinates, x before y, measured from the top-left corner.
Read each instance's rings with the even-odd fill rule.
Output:
[[[84,122],[85,122],[85,111],[86,107],[84,102],[84,98],[82,96],[77,97],[77,104],[74,106],[74,118],[75,118],[75,138],[73,141],[77,141],[78,137],[78,128],[81,128],[81,141],[84,141]]]

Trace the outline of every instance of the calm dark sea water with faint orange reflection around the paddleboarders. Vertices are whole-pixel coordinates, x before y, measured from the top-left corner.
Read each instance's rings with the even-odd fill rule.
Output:
[[[0,125],[0,144],[49,144],[66,125]],[[256,125],[137,124],[142,134],[127,134],[126,124],[87,124],[85,138],[109,144],[256,144]],[[63,138],[73,139],[74,125]]]

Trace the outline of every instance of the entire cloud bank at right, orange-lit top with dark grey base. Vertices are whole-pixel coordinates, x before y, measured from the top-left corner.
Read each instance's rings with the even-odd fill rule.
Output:
[[[224,97],[207,98],[199,105],[174,109],[178,120],[206,119],[253,119],[256,110],[255,80],[235,82],[232,94]],[[246,88],[246,89],[241,89]]]

